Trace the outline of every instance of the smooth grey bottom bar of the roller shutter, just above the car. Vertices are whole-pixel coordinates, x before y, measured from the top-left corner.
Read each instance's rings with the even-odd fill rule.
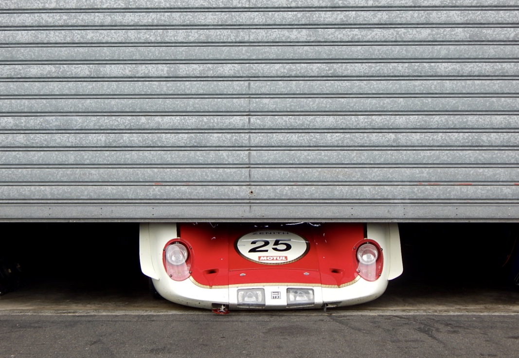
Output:
[[[171,213],[176,213],[174,218]],[[0,221],[22,222],[171,222],[172,219],[186,222],[515,222],[518,214],[519,206],[510,203],[244,203],[226,205],[225,210],[219,203],[0,205]]]

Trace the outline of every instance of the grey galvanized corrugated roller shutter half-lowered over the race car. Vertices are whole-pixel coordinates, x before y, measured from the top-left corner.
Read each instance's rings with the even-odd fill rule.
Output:
[[[3,1],[0,220],[516,220],[518,44],[516,0]]]

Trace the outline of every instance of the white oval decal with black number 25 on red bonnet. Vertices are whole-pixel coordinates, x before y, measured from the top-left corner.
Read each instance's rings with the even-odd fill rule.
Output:
[[[310,245],[303,237],[288,231],[261,230],[240,237],[235,248],[247,260],[282,265],[301,259]]]

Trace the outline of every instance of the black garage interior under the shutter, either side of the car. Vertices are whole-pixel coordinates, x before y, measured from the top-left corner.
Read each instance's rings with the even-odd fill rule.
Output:
[[[2,223],[0,227],[4,297],[44,290],[64,292],[64,300],[66,294],[153,299],[139,267],[138,223]],[[403,223],[399,227],[404,274],[390,282],[387,292],[423,294],[416,288],[429,293],[519,292],[514,284],[517,224]]]

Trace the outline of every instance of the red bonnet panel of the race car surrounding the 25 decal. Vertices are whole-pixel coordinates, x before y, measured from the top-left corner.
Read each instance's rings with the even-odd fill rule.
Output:
[[[359,276],[356,249],[366,242],[365,225],[323,223],[321,225],[272,225],[180,223],[181,242],[192,253],[191,279],[207,288],[229,286],[297,284],[344,287]],[[235,247],[251,232],[290,232],[305,238],[309,250],[297,261],[262,264],[247,260]],[[379,271],[383,264],[377,260]]]

